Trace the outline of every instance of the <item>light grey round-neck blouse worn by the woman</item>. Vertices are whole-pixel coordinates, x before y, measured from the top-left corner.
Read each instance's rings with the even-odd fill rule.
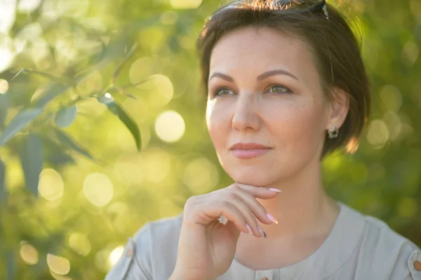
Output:
[[[323,244],[293,265],[253,270],[234,257],[217,280],[421,280],[421,251],[385,222],[338,201],[340,213]],[[167,280],[175,267],[182,214],[147,222],[128,240],[106,280]]]

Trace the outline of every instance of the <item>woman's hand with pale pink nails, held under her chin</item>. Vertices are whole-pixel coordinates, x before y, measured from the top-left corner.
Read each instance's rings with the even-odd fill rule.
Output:
[[[187,199],[173,275],[180,279],[213,280],[227,272],[240,232],[251,229],[254,236],[262,237],[265,233],[257,220],[266,225],[274,222],[256,198],[273,199],[278,192],[234,183]],[[221,215],[227,219],[225,225],[218,220]]]

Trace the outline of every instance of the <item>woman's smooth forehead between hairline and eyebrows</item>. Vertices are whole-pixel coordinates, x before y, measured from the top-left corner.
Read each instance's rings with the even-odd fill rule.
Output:
[[[308,44],[298,36],[268,27],[245,27],[221,37],[210,55],[210,72],[262,72],[287,69],[297,76],[316,71]]]

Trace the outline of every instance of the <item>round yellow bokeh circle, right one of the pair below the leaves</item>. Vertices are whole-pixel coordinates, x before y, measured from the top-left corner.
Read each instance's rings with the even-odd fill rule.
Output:
[[[114,195],[111,180],[103,173],[91,173],[83,180],[83,194],[91,204],[105,206]]]

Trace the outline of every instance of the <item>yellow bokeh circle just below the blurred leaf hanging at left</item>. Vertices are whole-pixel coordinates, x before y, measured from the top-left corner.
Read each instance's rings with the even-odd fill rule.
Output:
[[[48,201],[60,199],[65,192],[65,185],[60,174],[52,168],[41,171],[38,192]]]

